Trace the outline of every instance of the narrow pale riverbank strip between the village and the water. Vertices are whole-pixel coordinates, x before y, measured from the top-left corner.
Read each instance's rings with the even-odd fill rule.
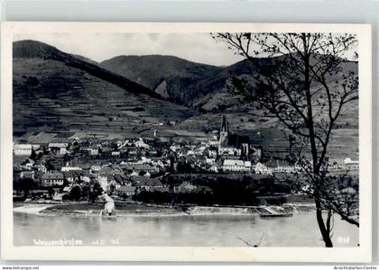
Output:
[[[135,202],[116,202],[117,216],[201,216],[201,215],[259,215],[259,209],[277,206],[198,206],[162,205]],[[312,211],[312,203],[287,203],[281,206],[287,212]],[[68,202],[60,204],[14,203],[15,212],[43,216],[100,216],[104,202]]]

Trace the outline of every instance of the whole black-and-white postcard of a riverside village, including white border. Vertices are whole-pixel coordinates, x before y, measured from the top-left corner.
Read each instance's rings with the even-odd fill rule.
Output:
[[[370,25],[1,35],[2,258],[371,260]]]

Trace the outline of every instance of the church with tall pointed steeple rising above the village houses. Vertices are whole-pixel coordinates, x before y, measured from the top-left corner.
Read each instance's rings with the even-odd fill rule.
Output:
[[[250,138],[231,133],[226,116],[223,115],[218,139],[218,155],[233,157],[248,156],[249,149]]]

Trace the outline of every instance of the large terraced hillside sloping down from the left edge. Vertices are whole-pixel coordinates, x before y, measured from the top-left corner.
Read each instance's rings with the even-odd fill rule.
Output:
[[[42,42],[14,42],[16,137],[128,136],[195,113],[84,59]]]

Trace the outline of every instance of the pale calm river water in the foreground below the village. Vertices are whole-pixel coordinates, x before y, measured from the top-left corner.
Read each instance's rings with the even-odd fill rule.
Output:
[[[358,228],[335,217],[333,242],[356,247]],[[74,238],[83,245],[322,247],[315,214],[261,219],[256,216],[49,217],[14,213],[14,245]],[[112,242],[113,240],[113,242]]]

